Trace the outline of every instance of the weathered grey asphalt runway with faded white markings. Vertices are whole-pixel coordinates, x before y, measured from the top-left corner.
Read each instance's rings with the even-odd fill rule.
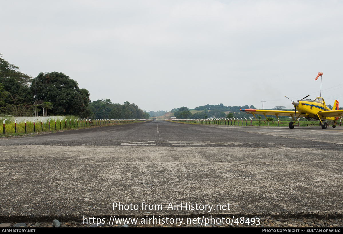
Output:
[[[342,136],[343,127],[149,121],[1,139],[0,218],[341,215]],[[214,206],[167,209],[181,202]]]

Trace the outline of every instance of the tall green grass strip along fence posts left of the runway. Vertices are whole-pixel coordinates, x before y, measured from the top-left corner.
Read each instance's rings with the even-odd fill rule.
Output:
[[[35,122],[35,130],[33,128],[33,121],[27,121],[26,122],[26,133],[25,133],[25,121],[17,121],[17,131],[15,133],[14,131],[14,120],[16,119],[16,117],[0,117],[0,121],[1,124],[3,124],[3,120],[6,119],[5,121],[5,134],[3,134],[3,128],[1,128],[1,132],[0,132],[0,137],[9,137],[9,136],[22,136],[25,134],[32,134],[32,133],[42,133],[42,132],[59,132],[59,131],[65,131],[65,130],[71,130],[71,129],[83,129],[83,128],[91,128],[91,127],[102,127],[102,126],[113,126],[113,125],[123,125],[123,124],[133,124],[135,122],[138,122],[137,120],[131,121],[131,122],[102,122],[101,125],[98,125],[98,122],[95,122],[95,120],[92,120],[93,124],[90,126],[89,122],[86,122],[82,120],[82,122],[79,120],[79,126],[77,125],[77,119],[79,117],[76,116],[72,116],[72,115],[68,115],[63,117],[62,120],[62,125],[60,125],[60,120],[58,119],[56,121],[56,130],[55,130],[55,120],[51,119],[50,120],[50,130],[49,130],[49,124],[48,122],[43,122],[43,130],[42,130],[42,124],[40,122],[40,120],[36,120]],[[39,118],[39,117],[38,117]],[[48,118],[48,117],[44,117],[44,118]],[[65,120],[67,120],[67,125]],[[69,125],[69,120],[71,120],[71,123]],[[75,125],[74,125],[74,119],[75,120]]]

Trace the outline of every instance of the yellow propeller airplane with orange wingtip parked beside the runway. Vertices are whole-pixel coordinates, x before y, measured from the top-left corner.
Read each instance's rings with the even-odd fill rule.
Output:
[[[308,97],[307,95],[306,97]],[[286,96],[285,96],[286,97]],[[305,99],[304,97],[303,99]],[[288,97],[287,97],[288,98]],[[289,98],[288,98],[289,99]],[[297,102],[292,101],[294,105],[294,111],[289,110],[256,110],[256,109],[240,109],[245,113],[252,114],[255,119],[257,115],[264,115],[264,117],[268,120],[266,115],[275,115],[277,119],[279,116],[291,116],[294,120],[289,122],[289,128],[294,128],[294,123],[300,118],[305,117],[306,119],[316,119],[320,121],[322,129],[326,129],[328,124],[327,120],[332,120],[334,124],[332,125],[333,128],[336,127],[336,121],[338,119],[342,119],[343,110],[338,109],[338,101],[335,100],[333,104],[332,110],[325,105],[325,101],[322,97],[317,97],[315,100],[306,100],[302,101],[298,100]],[[269,120],[268,120],[269,122]]]

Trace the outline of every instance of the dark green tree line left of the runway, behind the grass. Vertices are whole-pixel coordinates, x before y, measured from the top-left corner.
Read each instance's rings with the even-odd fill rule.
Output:
[[[137,105],[112,103],[109,99],[91,102],[89,92],[60,72],[40,72],[33,78],[1,58],[0,112],[13,116],[66,116],[82,118],[149,118]]]

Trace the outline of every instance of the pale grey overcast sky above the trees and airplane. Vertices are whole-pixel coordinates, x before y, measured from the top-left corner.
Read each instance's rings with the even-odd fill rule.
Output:
[[[343,105],[342,1],[0,1],[2,58],[145,110]],[[340,85],[339,85],[340,84]]]

